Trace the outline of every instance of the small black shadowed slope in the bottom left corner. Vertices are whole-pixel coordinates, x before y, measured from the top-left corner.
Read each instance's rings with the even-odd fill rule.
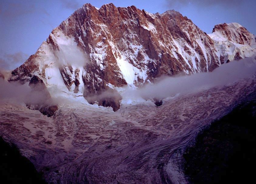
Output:
[[[46,184],[26,157],[22,156],[15,145],[10,146],[0,137],[0,177],[1,183]]]

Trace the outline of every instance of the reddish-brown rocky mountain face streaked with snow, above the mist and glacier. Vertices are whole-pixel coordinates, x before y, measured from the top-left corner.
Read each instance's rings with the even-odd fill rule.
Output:
[[[140,87],[161,75],[212,71],[253,53],[254,35],[237,24],[217,25],[208,36],[174,10],[151,14],[135,6],[110,3],[97,9],[85,4],[53,29],[9,81],[29,83],[37,76],[48,89],[92,99],[124,85]],[[53,95],[56,90],[49,91]],[[119,99],[96,101],[116,110]]]

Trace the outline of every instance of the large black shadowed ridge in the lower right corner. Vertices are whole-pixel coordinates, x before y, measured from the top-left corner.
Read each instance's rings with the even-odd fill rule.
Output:
[[[256,99],[215,121],[184,153],[191,183],[251,183],[255,180]]]

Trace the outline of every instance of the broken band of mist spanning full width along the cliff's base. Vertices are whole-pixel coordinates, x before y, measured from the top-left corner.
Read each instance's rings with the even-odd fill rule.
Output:
[[[196,73],[193,75],[176,75],[176,76],[162,76],[155,80],[154,83],[147,83],[143,87],[132,88],[129,86],[115,88],[122,96],[122,104],[137,104],[145,102],[149,99],[165,99],[168,97],[175,97],[177,95],[192,94],[213,87],[225,86],[232,84],[244,78],[253,77],[256,73],[256,59],[255,56],[244,58],[238,61],[225,63],[216,68],[212,72]],[[8,82],[0,79],[0,101],[11,101],[12,103],[38,103],[44,101],[43,92],[33,91],[28,85],[22,85],[18,82]],[[70,104],[70,103],[86,103],[83,101],[73,101],[58,88],[48,88],[52,96],[51,104]],[[115,97],[119,94],[113,93],[110,90],[104,91],[100,95],[94,95],[91,99],[104,99],[106,97]],[[82,97],[80,97],[81,99]],[[88,104],[89,105],[89,104]]]

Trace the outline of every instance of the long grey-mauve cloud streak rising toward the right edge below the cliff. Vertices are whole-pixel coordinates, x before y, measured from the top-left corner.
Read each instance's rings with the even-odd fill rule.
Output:
[[[223,64],[209,73],[196,73],[189,76],[162,77],[154,84],[146,84],[138,90],[125,90],[123,99],[144,98],[164,99],[176,95],[192,94],[213,87],[225,86],[256,74],[256,59],[245,58]],[[126,100],[127,101],[127,100]]]

